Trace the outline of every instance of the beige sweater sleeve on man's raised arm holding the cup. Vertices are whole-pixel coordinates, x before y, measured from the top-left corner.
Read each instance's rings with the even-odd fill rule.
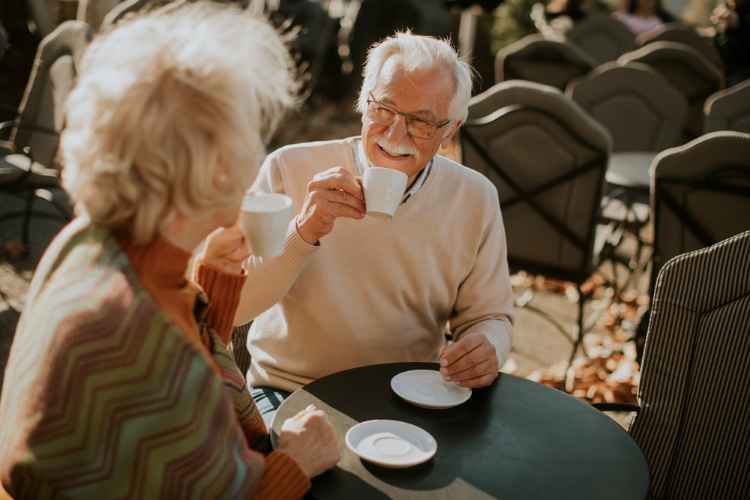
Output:
[[[251,190],[256,193],[287,193],[281,175],[283,149],[266,158]],[[279,302],[289,292],[318,247],[307,243],[297,232],[292,219],[280,255],[271,258],[252,256],[245,263],[247,280],[242,288],[235,325],[244,325]]]

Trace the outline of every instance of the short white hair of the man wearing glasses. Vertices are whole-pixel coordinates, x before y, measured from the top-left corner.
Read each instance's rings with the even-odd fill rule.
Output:
[[[455,87],[448,108],[448,118],[459,122],[466,120],[471,99],[471,67],[458,57],[447,40],[413,35],[410,31],[398,32],[370,48],[357,100],[357,110],[360,113],[367,111],[368,95],[377,85],[383,66],[388,59],[396,56],[409,72],[440,67],[450,71]]]

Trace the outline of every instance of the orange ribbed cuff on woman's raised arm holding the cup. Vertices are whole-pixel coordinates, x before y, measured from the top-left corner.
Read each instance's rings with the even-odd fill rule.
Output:
[[[245,275],[229,274],[213,266],[198,264],[198,285],[208,296],[208,324],[216,330],[224,345],[229,344],[234,313],[240,303]]]

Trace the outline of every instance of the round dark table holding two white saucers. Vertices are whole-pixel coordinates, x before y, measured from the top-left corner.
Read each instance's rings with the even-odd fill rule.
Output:
[[[560,391],[501,374],[490,387],[448,410],[401,400],[391,377],[434,363],[355,368],[316,380],[279,408],[272,428],[310,403],[325,410],[340,440],[338,466],[312,482],[317,499],[503,498],[642,499],[648,467],[636,443],[612,419]],[[409,469],[363,462],[346,431],[370,419],[394,419],[431,433],[438,451]]]

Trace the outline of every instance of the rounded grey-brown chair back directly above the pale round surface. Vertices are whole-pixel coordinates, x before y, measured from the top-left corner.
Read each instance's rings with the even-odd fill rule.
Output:
[[[613,151],[661,151],[680,143],[687,102],[648,66],[608,63],[571,82],[566,93],[609,131]]]

